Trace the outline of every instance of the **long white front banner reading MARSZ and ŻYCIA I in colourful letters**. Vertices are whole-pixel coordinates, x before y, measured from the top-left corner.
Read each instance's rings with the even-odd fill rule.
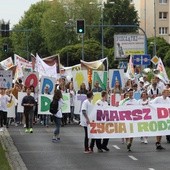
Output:
[[[168,104],[120,107],[91,106],[90,138],[129,138],[170,135]]]

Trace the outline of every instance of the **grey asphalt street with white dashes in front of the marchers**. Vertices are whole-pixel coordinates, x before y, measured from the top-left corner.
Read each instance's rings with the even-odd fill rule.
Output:
[[[155,138],[148,144],[135,138],[132,152],[127,152],[121,139],[110,139],[109,152],[83,153],[84,130],[79,125],[61,128],[61,141],[52,143],[54,126],[34,126],[26,134],[22,126],[10,126],[8,131],[28,170],[169,170],[170,144],[163,137],[164,151],[156,151]]]

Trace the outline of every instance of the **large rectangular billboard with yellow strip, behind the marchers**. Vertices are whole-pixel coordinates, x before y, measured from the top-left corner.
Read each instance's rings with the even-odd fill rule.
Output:
[[[145,36],[141,34],[115,34],[115,59],[124,59],[129,55],[145,53]]]

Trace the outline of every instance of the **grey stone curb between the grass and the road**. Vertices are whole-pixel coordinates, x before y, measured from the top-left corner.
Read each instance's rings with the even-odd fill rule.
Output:
[[[27,167],[23,162],[16,146],[14,145],[8,130],[5,129],[3,132],[0,132],[0,142],[3,149],[6,151],[6,157],[11,170],[27,170]]]

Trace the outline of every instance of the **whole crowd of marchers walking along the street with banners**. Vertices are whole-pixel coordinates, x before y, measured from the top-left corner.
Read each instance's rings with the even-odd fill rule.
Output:
[[[53,99],[56,99],[59,102],[58,110],[54,115],[38,115],[38,94],[35,92],[34,87],[25,87],[22,83],[22,80],[17,80],[13,84],[12,89],[0,89],[0,131],[3,131],[5,128],[8,128],[9,125],[15,123],[16,126],[23,124],[26,133],[33,133],[33,124],[40,123],[48,127],[50,122],[55,124],[54,135],[52,138],[53,142],[60,140],[60,127],[67,125],[68,123],[77,122],[84,128],[85,137],[84,137],[84,153],[92,153],[94,145],[96,143],[98,152],[109,151],[108,142],[109,139],[91,139],[89,145],[89,138],[87,133],[87,127],[90,123],[88,107],[92,102],[93,94],[95,92],[101,92],[101,99],[96,102],[96,105],[105,107],[110,105],[109,96],[111,93],[123,95],[123,100],[119,101],[119,105],[147,105],[149,103],[170,103],[170,84],[165,84],[159,76],[155,75],[150,81],[146,75],[138,78],[138,80],[128,79],[124,85],[124,88],[121,87],[120,82],[116,80],[115,86],[112,89],[109,87],[105,90],[102,89],[99,85],[99,82],[96,81],[93,88],[86,88],[85,83],[82,83],[78,91],[74,90],[73,81],[67,82],[65,77],[61,77],[56,84]],[[26,92],[25,97],[22,99],[21,104],[24,107],[23,113],[17,112],[17,104],[15,109],[15,118],[7,118],[7,104],[11,102],[12,96],[18,99],[19,92]],[[70,94],[70,113],[61,112],[61,107],[63,104],[62,93],[66,92]],[[140,94],[138,98],[135,97],[136,92]],[[34,93],[32,96],[31,93]],[[45,86],[44,94],[49,93],[49,87]],[[82,104],[82,113],[79,115],[74,114],[75,107],[75,95],[77,94],[86,94],[87,99]],[[118,106],[118,105],[116,105]],[[141,137],[141,142],[147,144],[147,136]],[[162,150],[165,149],[161,145],[161,136],[156,136],[156,149]],[[167,142],[170,143],[170,136],[166,136]],[[131,151],[131,146],[133,138],[122,139],[122,143],[126,142],[127,150]]]

